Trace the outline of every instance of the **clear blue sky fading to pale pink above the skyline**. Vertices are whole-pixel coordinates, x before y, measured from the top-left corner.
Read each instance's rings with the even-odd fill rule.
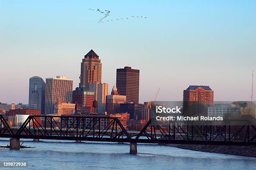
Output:
[[[140,70],[140,103],[159,87],[158,101],[180,101],[189,85],[210,86],[215,101],[251,100],[255,9],[255,0],[0,0],[0,102],[28,104],[32,76],[64,75],[75,89],[91,49],[109,91],[116,69]]]

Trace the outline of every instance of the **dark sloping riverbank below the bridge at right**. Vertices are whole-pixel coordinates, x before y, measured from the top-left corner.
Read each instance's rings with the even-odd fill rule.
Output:
[[[252,146],[218,146],[218,145],[186,145],[186,144],[167,144],[185,150],[195,150],[202,152],[222,153],[228,155],[238,155],[256,157],[256,147]]]

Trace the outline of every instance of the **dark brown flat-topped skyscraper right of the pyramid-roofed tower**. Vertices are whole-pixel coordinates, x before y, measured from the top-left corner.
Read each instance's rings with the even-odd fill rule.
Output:
[[[126,101],[138,103],[139,101],[140,71],[124,67],[116,69],[116,87],[118,94],[126,96]]]

